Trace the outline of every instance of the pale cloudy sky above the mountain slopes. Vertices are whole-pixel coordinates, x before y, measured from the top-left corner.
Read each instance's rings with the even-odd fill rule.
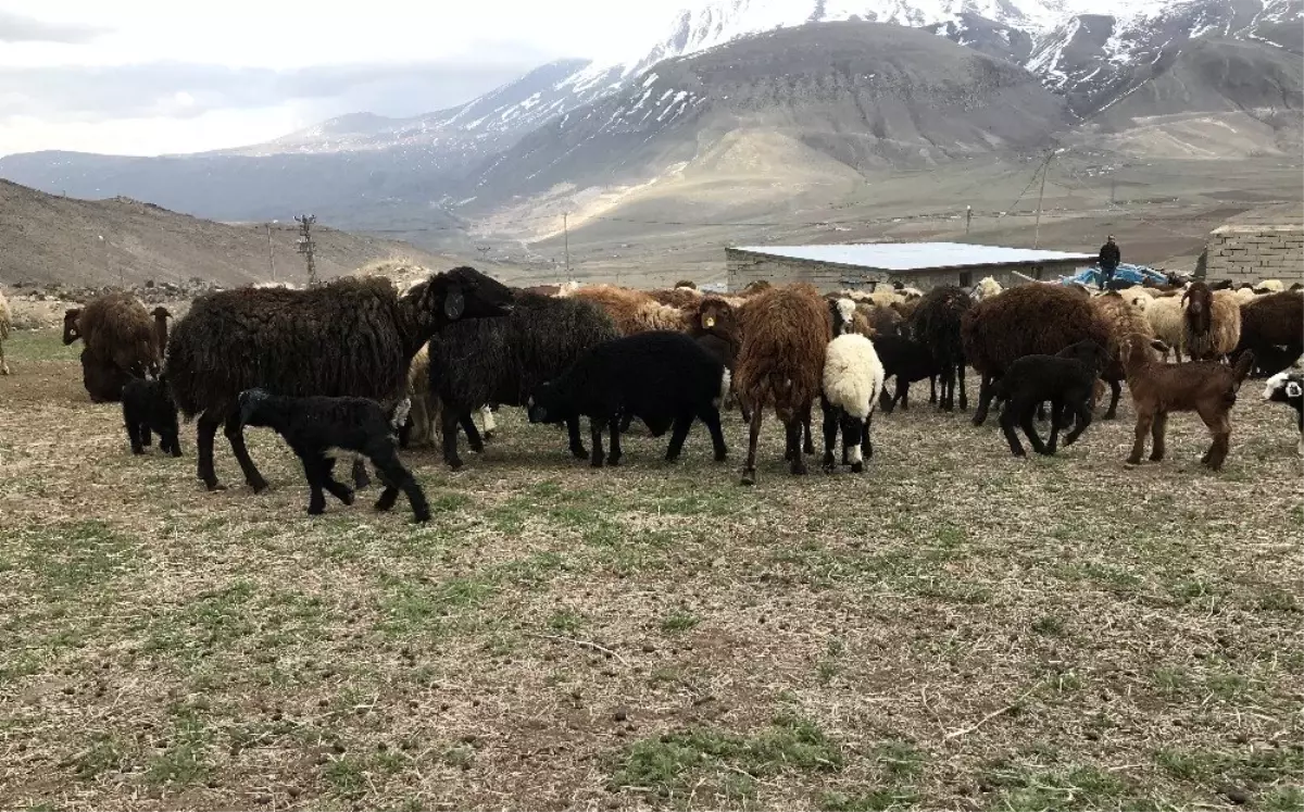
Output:
[[[621,59],[689,1],[0,0],[0,155],[198,151],[429,112],[552,59]]]

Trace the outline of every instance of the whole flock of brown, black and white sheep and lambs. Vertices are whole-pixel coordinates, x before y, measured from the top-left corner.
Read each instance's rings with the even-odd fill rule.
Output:
[[[619,463],[621,433],[635,419],[653,436],[670,432],[670,461],[700,420],[722,461],[720,410],[737,406],[748,426],[742,482],[751,484],[765,411],[784,423],[785,460],[802,474],[815,453],[818,403],[824,470],[837,467],[841,435],[842,465],[861,471],[872,456],[876,409],[908,407],[910,384],[927,380],[930,402],[952,411],[958,390],[965,410],[968,367],[981,377],[973,423],[1003,403],[1001,431],[1015,454],[1024,453],[1016,428],[1039,453],[1055,453],[1061,429],[1065,445],[1076,441],[1106,386],[1104,418],[1115,416],[1127,381],[1137,413],[1129,463],[1141,462],[1148,437],[1150,460],[1162,460],[1168,414],[1196,411],[1213,436],[1204,462],[1217,470],[1228,452],[1230,411],[1252,373],[1269,377],[1265,398],[1299,411],[1304,454],[1304,375],[1292,369],[1304,354],[1304,291],[1274,282],[1099,295],[1055,283],[1001,290],[992,279],[927,294],[879,286],[822,295],[806,283],[755,283],[709,295],[690,282],[660,291],[509,289],[456,268],[403,291],[383,277],[309,290],[243,287],[201,296],[171,334],[170,317],[128,294],[68,312],[64,342],[85,345],[91,398],[121,399],[136,453],[153,432],[164,452],[180,456],[177,413],[197,419],[198,476],[209,490],[222,487],[213,463],[219,427],[254,491],[267,483],[244,427],[275,429],[304,465],[309,513],[325,509],[326,493],[352,503],[353,491],[333,474],[344,457],[355,487],[368,482],[364,460],[373,463],[385,486],[377,509],[403,492],[425,521],[425,497],[396,448],[439,435],[443,460],[460,467],[459,431],[482,450],[499,406],[565,426],[570,452],[593,466]],[[7,322],[0,319],[0,337]],[[1179,363],[1167,363],[1170,352]],[[3,349],[0,368],[8,372]],[[891,379],[895,393],[885,390]],[[1034,414],[1047,403],[1043,443]]]

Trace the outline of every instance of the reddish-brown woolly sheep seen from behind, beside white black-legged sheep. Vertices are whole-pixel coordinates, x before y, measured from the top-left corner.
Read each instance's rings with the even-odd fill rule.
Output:
[[[786,428],[785,458],[792,473],[805,474],[802,429],[820,396],[824,351],[833,339],[828,305],[814,286],[801,282],[756,294],[742,305],[739,321],[742,347],[734,385],[751,411],[742,484],[756,482],[756,443],[767,406],[775,407]]]

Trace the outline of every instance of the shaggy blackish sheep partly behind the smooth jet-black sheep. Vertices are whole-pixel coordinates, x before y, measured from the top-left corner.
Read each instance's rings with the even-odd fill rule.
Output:
[[[443,461],[462,467],[458,426],[472,452],[484,450],[471,413],[486,403],[524,406],[544,381],[565,372],[576,358],[619,336],[604,309],[583,299],[553,299],[519,292],[505,319],[449,325],[430,341],[430,394],[441,409]],[[579,416],[566,420],[570,450],[587,456]]]

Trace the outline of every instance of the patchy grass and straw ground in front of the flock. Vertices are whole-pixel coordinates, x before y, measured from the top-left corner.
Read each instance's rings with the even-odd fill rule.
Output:
[[[436,510],[304,513],[128,452],[53,333],[0,379],[0,808],[1304,808],[1304,499],[1251,383],[1222,474],[1131,409],[1054,460],[926,402],[862,476],[755,488],[702,427],[593,471],[552,428],[447,473]],[[926,398],[923,398],[926,401]],[[816,466],[818,471],[818,466]],[[239,487],[237,487],[239,486]]]

